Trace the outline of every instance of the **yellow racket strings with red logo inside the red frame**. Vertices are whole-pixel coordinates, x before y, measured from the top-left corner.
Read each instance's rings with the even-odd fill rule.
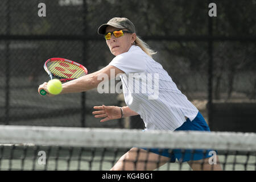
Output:
[[[71,64],[62,60],[50,61],[47,67],[53,75],[61,78],[78,78],[86,75],[84,69],[78,65]]]

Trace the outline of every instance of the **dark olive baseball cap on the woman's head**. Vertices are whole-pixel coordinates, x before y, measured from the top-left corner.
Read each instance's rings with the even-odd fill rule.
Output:
[[[127,28],[128,31],[130,32],[135,32],[135,26],[134,24],[127,18],[119,18],[115,17],[112,18],[108,21],[108,23],[102,24],[98,28],[98,34],[105,34],[106,32],[106,27],[112,26],[115,28]]]

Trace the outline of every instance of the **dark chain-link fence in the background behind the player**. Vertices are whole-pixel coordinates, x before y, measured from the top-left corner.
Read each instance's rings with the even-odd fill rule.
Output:
[[[39,17],[39,3],[46,5],[46,17]],[[242,115],[247,118],[243,120],[251,122],[255,114],[246,111],[255,111],[256,1],[214,1],[216,17],[209,17],[209,3],[2,0],[0,123],[143,127],[139,117],[130,118],[129,125],[124,119],[100,123],[93,117],[95,105],[122,105],[117,93],[99,94],[90,90],[52,98],[37,93],[38,85],[48,80],[43,64],[51,57],[77,61],[89,73],[108,65],[114,56],[105,40],[97,35],[97,28],[114,16],[127,17],[135,24],[137,35],[158,52],[154,59],[215,130],[222,130],[221,122],[239,118],[232,112],[233,107],[216,104],[243,103],[242,108],[247,109],[238,106],[234,110],[245,110]],[[250,106],[245,107],[248,102]],[[230,108],[230,112],[225,108]],[[255,126],[250,129],[256,131]]]

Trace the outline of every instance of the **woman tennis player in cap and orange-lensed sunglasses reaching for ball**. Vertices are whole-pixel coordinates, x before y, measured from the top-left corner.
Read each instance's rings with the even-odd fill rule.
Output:
[[[97,88],[102,81],[98,77],[105,73],[110,78],[110,72],[114,71],[115,77],[121,78],[127,106],[94,106],[97,111],[93,111],[93,114],[96,118],[102,118],[101,122],[139,114],[144,121],[146,131],[209,131],[199,110],[177,89],[176,84],[162,65],[152,59],[151,56],[155,52],[138,38],[134,24],[129,19],[112,18],[98,28],[98,34],[105,36],[106,44],[115,56],[114,59],[97,72],[63,84],[61,94],[85,92]],[[154,78],[151,79],[151,87],[157,88],[157,94],[148,90],[146,92],[139,91],[143,90],[143,85],[148,84],[147,79],[137,78],[142,74],[154,75]],[[157,79],[155,80],[155,78]],[[137,92],[134,92],[134,86],[135,89],[137,86],[137,90],[135,90]],[[46,82],[39,86],[38,91],[40,92],[41,89],[47,91]],[[201,170],[201,163],[204,163],[203,170],[221,170],[218,158],[217,164],[210,165],[208,158],[211,155],[208,155],[208,152],[205,154],[201,150],[195,151],[194,154],[191,152],[181,154],[181,150],[174,150],[171,155],[167,149],[160,151],[157,148],[151,148],[147,150],[150,152],[147,152],[145,148],[131,148],[118,160],[112,170],[154,170],[167,162],[175,162],[176,159],[188,162],[193,170]],[[159,161],[160,159],[160,163],[145,163],[146,159],[148,161]],[[129,162],[135,160],[136,163]]]

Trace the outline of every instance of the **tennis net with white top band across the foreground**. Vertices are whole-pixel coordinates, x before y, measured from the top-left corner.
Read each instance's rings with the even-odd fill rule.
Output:
[[[130,148],[138,147],[145,150],[133,150],[133,157],[120,163],[122,169],[191,170],[193,164],[214,169],[217,155],[223,170],[255,171],[255,141],[255,133],[0,126],[0,169],[109,170]],[[180,159],[165,163],[168,158],[151,157],[148,151],[156,148]],[[200,155],[210,151],[210,158],[183,162],[187,153],[193,158],[199,150]]]

